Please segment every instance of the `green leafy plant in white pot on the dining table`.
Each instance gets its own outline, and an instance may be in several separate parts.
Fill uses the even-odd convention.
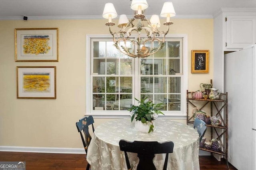
[[[139,105],[132,105],[128,111],[130,111],[131,120],[136,119],[135,129],[138,131],[148,131],[148,133],[150,133],[154,131],[154,120],[158,117],[158,114],[164,115],[162,111],[158,110],[162,108],[164,104],[153,104],[152,100],[147,100],[147,98],[148,97],[142,98],[141,101],[135,98],[135,100],[139,102]]]

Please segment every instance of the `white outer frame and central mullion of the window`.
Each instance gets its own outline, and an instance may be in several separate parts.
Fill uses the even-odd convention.
[[[167,34],[166,38],[182,38],[182,74],[183,78],[181,78],[181,106],[180,106],[180,111],[170,111],[165,113],[165,115],[160,115],[162,118],[167,118],[167,119],[186,119],[186,90],[188,89],[188,35],[187,34]],[[100,111],[100,110],[92,110],[90,106],[92,106],[92,100],[90,96],[92,96],[92,92],[90,89],[92,89],[91,85],[91,64],[92,64],[92,43],[91,39],[106,39],[106,38],[112,38],[111,35],[107,34],[97,34],[97,35],[92,35],[88,34],[86,35],[86,113],[85,115],[94,115],[96,118],[124,118],[130,116],[129,111],[112,111],[112,112],[106,112],[106,111]],[[138,72],[134,72],[134,68],[138,67],[139,59],[135,58],[134,59],[134,67],[133,67],[133,79],[139,80],[139,74]],[[122,75],[121,75],[122,76]],[[134,87],[134,81],[132,86]],[[138,94],[139,89],[134,89],[132,94],[133,96],[136,97],[134,94]],[[135,100],[133,100],[133,103],[135,103]],[[136,105],[136,103],[135,103]]]

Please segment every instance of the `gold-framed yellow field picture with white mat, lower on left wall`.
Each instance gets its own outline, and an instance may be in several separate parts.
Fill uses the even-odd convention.
[[[56,99],[56,66],[17,66],[18,99]]]

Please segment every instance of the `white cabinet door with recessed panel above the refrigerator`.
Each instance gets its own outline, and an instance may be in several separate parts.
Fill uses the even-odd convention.
[[[226,49],[243,49],[256,43],[256,16],[227,15]]]

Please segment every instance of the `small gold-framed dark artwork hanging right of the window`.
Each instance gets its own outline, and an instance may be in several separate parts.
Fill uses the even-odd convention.
[[[209,50],[192,50],[191,56],[192,73],[209,72]]]

